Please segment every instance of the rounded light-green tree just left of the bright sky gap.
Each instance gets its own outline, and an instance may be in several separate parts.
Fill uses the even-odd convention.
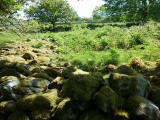
[[[31,19],[48,22],[53,26],[56,22],[68,22],[77,17],[66,0],[40,0],[37,5],[26,9],[26,14]]]

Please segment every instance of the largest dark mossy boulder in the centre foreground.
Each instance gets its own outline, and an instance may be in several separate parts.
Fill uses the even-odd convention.
[[[90,101],[103,82],[104,79],[99,73],[73,75],[64,83],[60,96],[71,97],[73,100]]]

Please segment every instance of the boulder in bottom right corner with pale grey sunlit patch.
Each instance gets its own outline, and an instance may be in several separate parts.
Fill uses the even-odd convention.
[[[131,120],[159,120],[159,108],[151,101],[140,97],[131,96],[126,103]]]

